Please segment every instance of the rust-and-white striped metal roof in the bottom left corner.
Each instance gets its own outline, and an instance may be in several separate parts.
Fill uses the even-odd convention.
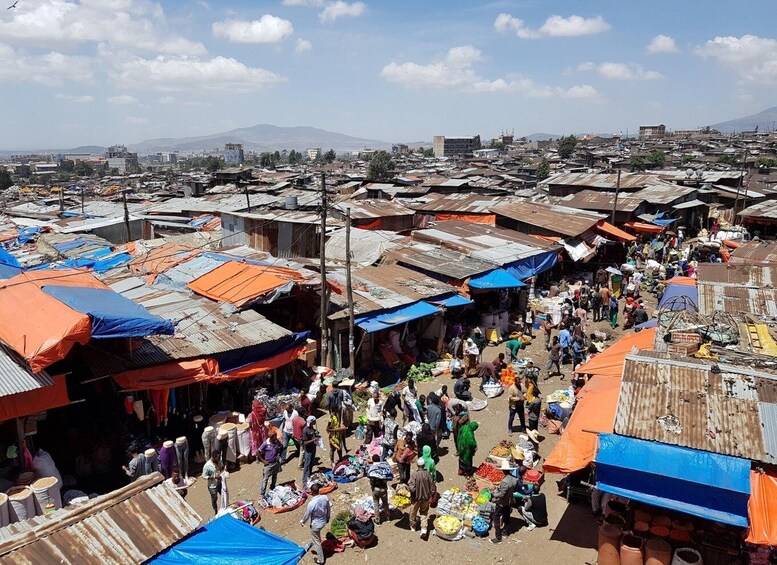
[[[104,496],[57,512],[52,519],[13,524],[0,561],[19,565],[142,563],[192,533],[201,518],[164,482],[147,475]],[[6,528],[7,529],[7,528]]]

